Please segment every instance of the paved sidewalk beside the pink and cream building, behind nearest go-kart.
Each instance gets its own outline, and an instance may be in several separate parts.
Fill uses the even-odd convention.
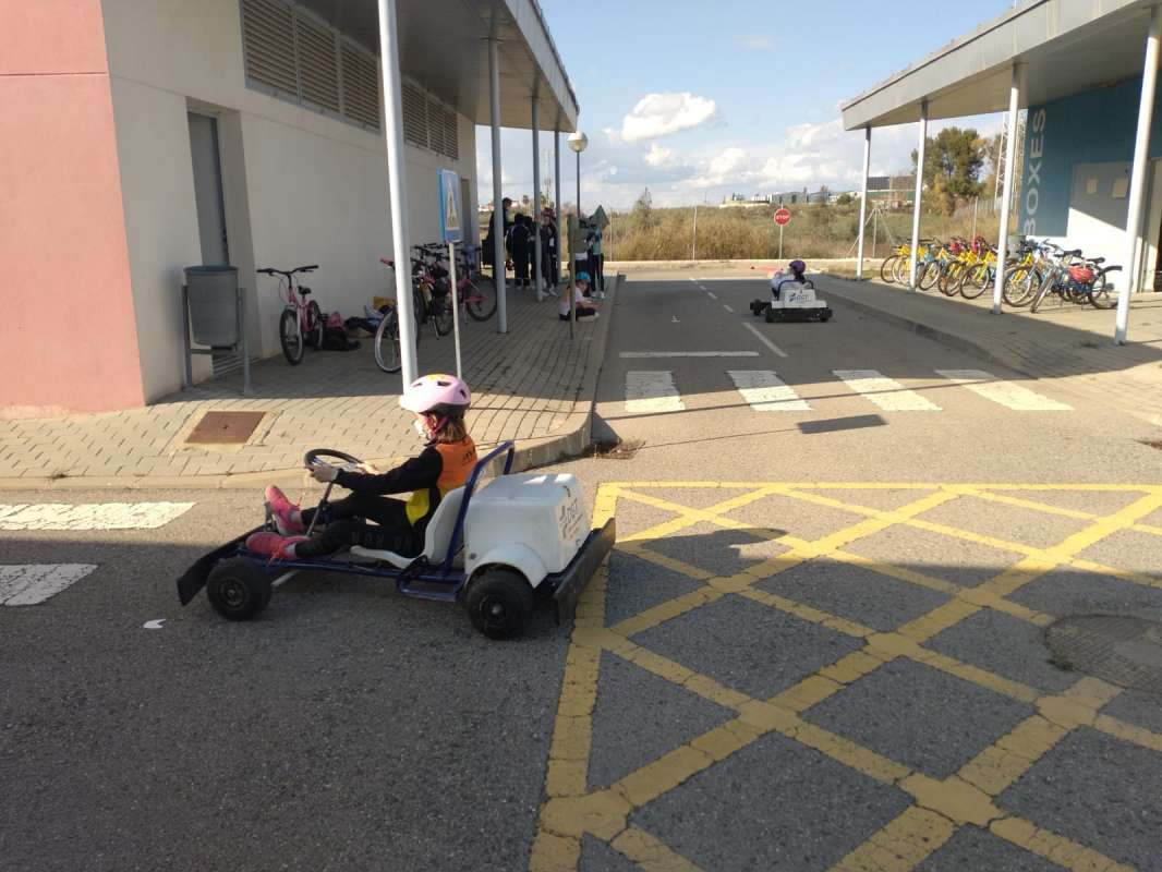
[[[469,429],[478,444],[516,439],[522,465],[547,463],[587,439],[588,416],[617,293],[608,284],[604,317],[569,326],[555,298],[537,302],[508,292],[509,331],[495,316],[461,324],[464,377],[473,389]],[[421,372],[454,372],[452,337],[423,328]],[[282,357],[242,374],[206,381],[139,409],[0,422],[0,487],[56,485],[191,485],[241,481],[260,473],[302,470],[311,448],[335,448],[387,462],[418,448],[411,415],[400,409],[401,377],[381,372],[371,339],[358,351],[308,351],[299,366]],[[266,413],[244,445],[191,445],[186,438],[207,412]]]

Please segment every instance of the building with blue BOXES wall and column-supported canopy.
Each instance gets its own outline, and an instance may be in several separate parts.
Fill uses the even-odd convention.
[[[845,102],[844,126],[866,133],[867,176],[874,128],[919,121],[923,156],[928,120],[1007,109],[1005,165],[1013,166],[1018,114],[1027,110],[1020,202],[1003,231],[1106,257],[1126,267],[1127,292],[1153,290],[1162,269],[1160,33],[1162,10],[1150,0],[1023,0]],[[913,226],[914,240],[918,209]],[[1128,300],[1119,300],[1119,342]]]

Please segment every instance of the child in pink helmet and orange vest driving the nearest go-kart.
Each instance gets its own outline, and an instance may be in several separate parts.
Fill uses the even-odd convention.
[[[423,551],[428,522],[440,499],[468,480],[476,463],[476,445],[468,436],[464,414],[472,395],[454,376],[422,376],[404,388],[400,406],[416,416],[424,450],[390,472],[364,465],[358,472],[335,466],[310,470],[316,481],[333,481],[351,495],[330,503],[325,522],[310,538],[302,534],[317,509],[299,510],[278,487],[266,488],[266,505],[278,533],[256,533],[246,549],[272,559],[310,558],[350,545],[415,557]],[[383,494],[411,492],[404,502]],[[373,524],[367,523],[373,521]]]

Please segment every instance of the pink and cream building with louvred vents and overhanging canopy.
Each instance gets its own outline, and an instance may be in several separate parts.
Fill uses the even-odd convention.
[[[399,0],[392,28],[401,238],[429,242],[437,170],[476,215],[476,124],[530,128],[539,102],[571,131],[578,103],[535,0]],[[320,264],[307,284],[344,315],[388,288],[376,0],[13,0],[0,33],[0,369],[20,373],[0,416],[177,391],[185,266],[239,269],[258,356],[279,352],[282,302],[257,267]]]

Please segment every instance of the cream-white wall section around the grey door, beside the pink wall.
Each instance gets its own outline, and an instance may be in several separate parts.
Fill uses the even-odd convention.
[[[379,263],[392,249],[380,134],[248,88],[238,0],[103,0],[102,9],[146,400],[181,385],[178,290],[181,269],[201,263],[188,109],[220,117],[230,259],[248,288],[252,353],[280,353],[275,283],[256,266],[320,264],[307,284],[324,312],[344,316],[389,287]],[[460,116],[459,130],[459,160],[407,148],[413,243],[438,238],[436,169],[475,191],[474,127]],[[195,366],[206,374],[206,362]]]

